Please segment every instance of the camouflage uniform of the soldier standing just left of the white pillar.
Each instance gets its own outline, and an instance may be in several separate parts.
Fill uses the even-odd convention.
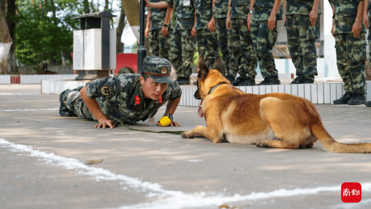
[[[300,83],[304,82],[304,77],[313,83],[314,75],[318,75],[315,44],[319,38],[319,17],[316,25],[312,26],[309,19],[312,8],[313,0],[287,0],[285,23],[287,43]],[[318,14],[322,14],[320,4]]]

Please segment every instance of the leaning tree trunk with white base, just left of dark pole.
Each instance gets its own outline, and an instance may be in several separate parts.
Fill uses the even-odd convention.
[[[139,21],[139,3],[136,0],[122,0],[122,5],[124,7],[125,15],[128,19],[130,27],[136,37],[136,40],[139,42],[140,36],[140,21]]]

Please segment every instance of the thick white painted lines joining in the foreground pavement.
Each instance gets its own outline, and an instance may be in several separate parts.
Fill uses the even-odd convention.
[[[340,194],[341,186],[328,186],[316,188],[297,188],[297,189],[278,189],[271,192],[252,192],[249,195],[235,194],[232,197],[224,196],[225,191],[219,192],[217,195],[207,196],[205,192],[194,194],[185,194],[182,191],[166,190],[158,183],[151,183],[141,181],[139,178],[129,177],[123,174],[115,174],[109,170],[90,167],[83,164],[80,160],[74,158],[67,158],[57,156],[54,153],[46,153],[34,150],[32,146],[22,144],[15,144],[5,139],[0,138],[0,147],[8,147],[13,152],[26,152],[30,156],[37,157],[48,164],[61,166],[67,170],[75,170],[78,174],[95,177],[97,181],[111,180],[119,181],[120,184],[126,184],[128,187],[136,189],[137,192],[148,192],[146,197],[155,198],[149,203],[123,206],[117,209],[181,209],[202,206],[220,206],[225,203],[246,201],[246,200],[260,200],[268,198],[292,197],[298,195],[313,195],[321,192],[337,192]],[[362,192],[371,191],[370,183],[361,183]],[[127,187],[122,187],[127,189]],[[340,199],[340,197],[339,197]],[[152,199],[153,200],[153,199]]]

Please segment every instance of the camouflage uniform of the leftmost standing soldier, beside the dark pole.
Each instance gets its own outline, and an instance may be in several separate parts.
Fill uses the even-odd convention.
[[[151,0],[151,2],[159,2],[160,0]],[[172,22],[168,25],[168,35],[162,36],[161,29],[164,25],[167,8],[156,9],[149,8],[151,11],[151,26],[149,33],[149,45],[151,47],[152,55],[163,57],[169,60],[170,35],[172,33]]]

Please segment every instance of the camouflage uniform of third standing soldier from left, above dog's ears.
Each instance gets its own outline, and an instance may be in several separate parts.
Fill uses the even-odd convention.
[[[215,58],[219,55],[216,32],[211,32],[207,27],[207,24],[212,18],[212,0],[195,1],[197,2],[197,48],[199,54],[203,54],[206,66],[212,69],[214,67]]]

